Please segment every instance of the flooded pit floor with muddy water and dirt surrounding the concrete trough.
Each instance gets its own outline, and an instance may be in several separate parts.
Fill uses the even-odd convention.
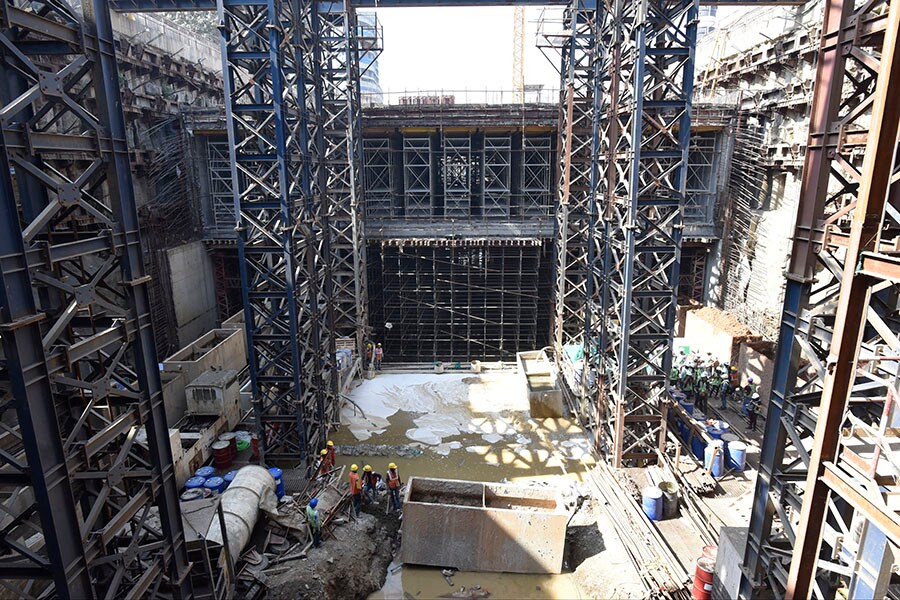
[[[567,419],[532,419],[514,373],[380,374],[354,389],[351,399],[344,407],[342,427],[332,436],[339,467],[358,464],[362,470],[371,464],[375,472],[384,473],[389,462],[396,462],[404,483],[420,476],[511,482],[559,492],[570,514],[574,511],[566,530],[563,572],[464,572],[455,565],[403,565],[401,521],[396,514],[386,514],[387,498],[380,495],[364,507],[360,521],[333,527],[335,537],[326,535],[321,548],[285,563],[290,569],[269,581],[270,597],[641,596],[639,585],[632,583],[638,577],[613,528],[593,501],[584,498],[586,471],[594,464],[588,440]],[[341,485],[347,485],[346,477]],[[442,540],[433,543],[437,547]],[[451,569],[449,577],[442,573],[444,568]]]

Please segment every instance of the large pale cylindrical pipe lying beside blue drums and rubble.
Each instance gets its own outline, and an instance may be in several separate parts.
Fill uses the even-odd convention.
[[[250,541],[256,518],[259,516],[259,503],[266,490],[275,493],[275,480],[263,467],[247,465],[242,467],[222,494],[222,512],[225,516],[225,531],[228,534],[228,551],[231,560],[237,562],[241,551]],[[222,531],[219,520],[214,519],[206,532],[206,539],[222,543]]]

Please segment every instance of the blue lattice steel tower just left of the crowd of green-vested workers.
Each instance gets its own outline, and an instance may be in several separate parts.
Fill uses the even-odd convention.
[[[615,466],[655,461],[665,442],[696,18],[692,0],[622,4],[606,241]]]

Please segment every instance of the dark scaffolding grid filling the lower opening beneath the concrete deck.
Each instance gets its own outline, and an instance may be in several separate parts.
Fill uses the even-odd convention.
[[[533,239],[371,245],[375,339],[408,362],[511,360],[545,346],[549,250]]]

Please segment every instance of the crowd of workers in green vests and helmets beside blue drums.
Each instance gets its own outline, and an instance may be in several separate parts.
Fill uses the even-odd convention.
[[[669,379],[703,412],[708,410],[709,399],[718,400],[720,410],[728,408],[729,399],[739,402],[741,416],[747,419],[750,431],[756,431],[760,410],[759,384],[753,377],[748,377],[742,386],[737,367],[713,358],[712,352],[707,352],[704,357],[682,350],[672,361]]]

